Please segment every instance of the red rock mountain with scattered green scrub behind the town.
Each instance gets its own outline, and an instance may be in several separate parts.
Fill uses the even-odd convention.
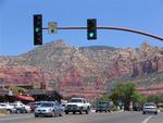
[[[163,48],[146,42],[137,49],[77,48],[57,40],[18,57],[0,57],[1,85],[46,84],[64,96],[96,98],[126,82],[145,94],[163,94]]]

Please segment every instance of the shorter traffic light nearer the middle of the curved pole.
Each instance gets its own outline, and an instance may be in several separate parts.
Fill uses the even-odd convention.
[[[97,39],[97,20],[87,20],[87,39]]]

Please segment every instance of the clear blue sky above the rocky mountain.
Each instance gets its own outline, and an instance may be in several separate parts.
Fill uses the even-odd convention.
[[[35,48],[33,14],[59,26],[86,26],[97,19],[99,26],[122,26],[163,36],[163,0],[0,0],[0,56],[18,56]],[[143,41],[163,47],[163,41],[118,30],[98,30],[87,40],[86,30],[43,30],[43,44],[63,39],[70,46],[139,47]]]

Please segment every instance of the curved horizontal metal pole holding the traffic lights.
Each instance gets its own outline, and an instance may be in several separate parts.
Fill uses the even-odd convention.
[[[48,27],[45,27],[42,29],[48,29]],[[57,27],[57,29],[87,29],[87,27],[85,26],[70,26],[70,27]],[[113,29],[113,30],[122,30],[122,32],[129,32],[129,33],[134,33],[134,34],[139,34],[139,35],[143,35],[143,36],[148,36],[154,39],[159,39],[163,41],[163,37],[153,35],[153,34],[149,34],[142,30],[136,30],[136,29],[131,29],[131,28],[125,28],[125,27],[113,27],[113,26],[98,26],[97,29]]]

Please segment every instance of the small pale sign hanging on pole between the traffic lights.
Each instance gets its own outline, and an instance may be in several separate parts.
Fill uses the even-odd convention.
[[[58,33],[58,23],[57,22],[49,22],[48,23],[48,33],[49,34],[55,34]]]

